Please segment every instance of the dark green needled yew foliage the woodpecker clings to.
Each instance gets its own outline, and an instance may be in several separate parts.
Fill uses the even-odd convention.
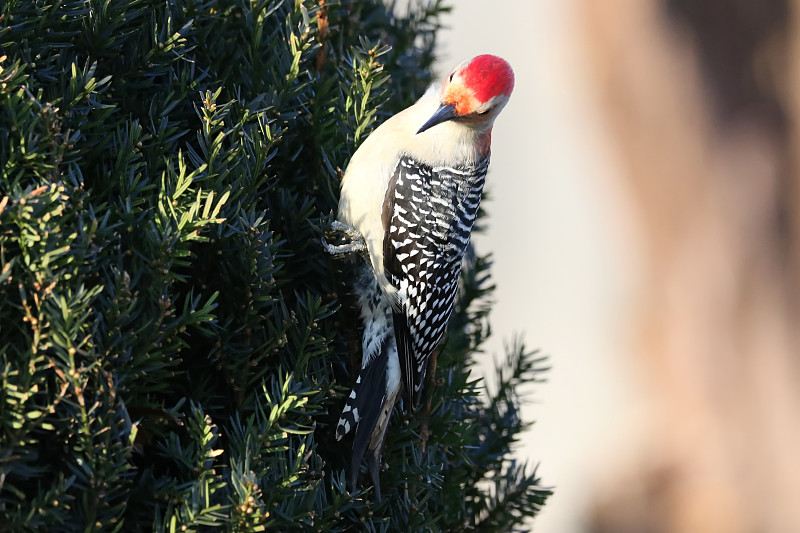
[[[465,274],[382,505],[334,424],[360,344],[324,254],[341,171],[430,82],[439,1],[0,3],[0,524],[9,531],[507,531],[547,491],[469,375]],[[510,373],[509,373],[510,372]]]

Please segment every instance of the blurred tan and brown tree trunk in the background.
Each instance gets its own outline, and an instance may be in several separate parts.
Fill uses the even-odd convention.
[[[800,0],[583,0],[653,405],[600,532],[800,531]]]

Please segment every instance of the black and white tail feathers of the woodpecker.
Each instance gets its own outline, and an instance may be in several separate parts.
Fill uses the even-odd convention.
[[[341,440],[355,428],[350,484],[354,490],[364,453],[372,475],[375,495],[381,498],[380,459],[386,428],[400,391],[400,362],[394,337],[391,304],[381,292],[372,268],[364,265],[356,283],[364,322],[361,371],[336,425]]]

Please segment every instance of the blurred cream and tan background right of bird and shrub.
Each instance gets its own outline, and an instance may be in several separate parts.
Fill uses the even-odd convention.
[[[487,351],[550,356],[540,533],[800,532],[800,0],[458,0],[516,72]]]

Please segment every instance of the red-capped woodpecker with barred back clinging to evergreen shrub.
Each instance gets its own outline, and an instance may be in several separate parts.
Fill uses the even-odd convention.
[[[400,390],[410,410],[422,394],[428,359],[441,340],[478,213],[494,119],[514,73],[503,59],[477,56],[441,87],[378,127],[353,154],[331,228],[366,252],[356,282],[364,320],[361,372],[336,437],[356,428],[351,483],[367,456],[380,499],[380,455]]]

